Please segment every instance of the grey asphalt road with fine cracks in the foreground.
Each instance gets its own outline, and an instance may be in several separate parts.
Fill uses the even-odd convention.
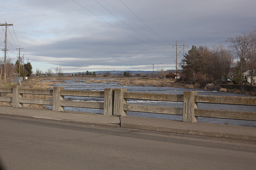
[[[255,169],[256,141],[0,115],[2,169]]]

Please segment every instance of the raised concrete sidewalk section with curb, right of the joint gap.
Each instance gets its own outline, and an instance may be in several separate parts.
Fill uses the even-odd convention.
[[[200,122],[188,123],[132,116],[121,116],[120,119],[121,127],[124,128],[256,141],[256,128],[254,127]]]

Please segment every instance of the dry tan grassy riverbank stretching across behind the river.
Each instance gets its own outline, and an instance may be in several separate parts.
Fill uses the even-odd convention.
[[[99,80],[99,78],[101,78]],[[175,87],[175,88],[190,88],[190,89],[204,89],[204,90],[216,90],[220,92],[230,92],[237,94],[246,94],[249,96],[256,95],[255,86],[248,85],[233,85],[233,84],[213,84],[208,83],[202,85],[198,82],[183,82],[173,79],[153,79],[153,78],[102,78],[102,77],[81,77],[81,76],[32,76],[28,80],[22,82],[23,88],[28,89],[47,89],[52,88],[51,85],[56,83],[65,83],[64,80],[79,79],[77,82],[91,82],[91,83],[109,83],[119,82],[120,85],[135,85],[135,86],[155,86],[155,87]],[[19,85],[19,84],[16,84]],[[0,84],[0,88],[7,88],[13,86],[13,84]]]

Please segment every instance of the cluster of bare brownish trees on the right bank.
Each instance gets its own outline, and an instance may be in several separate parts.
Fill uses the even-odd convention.
[[[183,69],[182,78],[193,82],[227,83],[233,77],[234,83],[242,84],[242,73],[251,70],[251,79],[256,69],[256,30],[242,32],[225,42],[228,48],[215,45],[192,46],[179,65]],[[253,72],[254,71],[254,72]]]

